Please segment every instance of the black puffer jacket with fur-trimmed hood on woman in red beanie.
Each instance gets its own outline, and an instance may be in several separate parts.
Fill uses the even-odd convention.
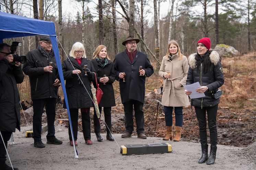
[[[222,65],[220,62],[220,55],[216,51],[210,53],[211,70],[203,73],[204,62],[196,60],[196,55],[191,54],[188,57],[189,69],[186,85],[199,82],[201,86],[207,86],[208,90],[205,92],[205,97],[191,99],[191,105],[196,107],[212,107],[220,103],[220,98],[215,99],[212,93],[216,92],[224,83],[224,76]],[[199,67],[199,68],[197,68]]]

